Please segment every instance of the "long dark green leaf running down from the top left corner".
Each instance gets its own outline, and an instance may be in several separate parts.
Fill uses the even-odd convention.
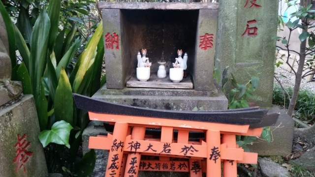
[[[9,14],[6,12],[2,1],[0,1],[0,14],[3,18],[5,29],[8,35],[9,51],[7,52],[9,53],[9,56],[11,59],[11,66],[12,68],[14,68],[16,65],[14,28],[13,28],[13,23],[9,17]]]

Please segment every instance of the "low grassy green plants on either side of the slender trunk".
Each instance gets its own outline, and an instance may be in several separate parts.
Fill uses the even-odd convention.
[[[285,88],[286,92],[292,95],[293,89],[291,87]],[[273,104],[289,105],[289,99],[280,85],[274,85]],[[315,92],[307,89],[301,89],[298,94],[295,105],[295,117],[312,123],[315,121]]]

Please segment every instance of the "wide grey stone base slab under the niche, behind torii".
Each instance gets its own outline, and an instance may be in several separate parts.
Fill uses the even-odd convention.
[[[217,87],[214,91],[194,89],[107,89],[106,85],[92,97],[105,101],[163,110],[226,110],[228,101]]]

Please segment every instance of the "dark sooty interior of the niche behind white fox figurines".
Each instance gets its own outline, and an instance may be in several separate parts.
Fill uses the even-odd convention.
[[[177,50],[188,53],[187,72],[195,57],[198,10],[121,10],[123,56],[129,61],[123,68],[130,77],[137,67],[137,52],[147,49],[151,72],[158,71],[158,61],[166,61],[168,72],[178,57]]]

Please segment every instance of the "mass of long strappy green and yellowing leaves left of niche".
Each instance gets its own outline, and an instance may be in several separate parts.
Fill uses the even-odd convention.
[[[100,23],[88,44],[82,45],[87,34],[78,29],[82,24],[78,25],[70,18],[79,12],[81,15],[76,18],[81,19],[88,14],[91,3],[91,0],[11,0],[6,6],[0,4],[1,14],[17,20],[16,24],[12,24],[10,18],[5,21],[13,27],[11,31],[15,39],[10,42],[23,60],[13,67],[12,76],[23,82],[25,94],[34,95],[42,131],[39,139],[46,147],[50,173],[61,173],[62,167],[66,167],[71,176],[84,177],[94,168],[94,151],[84,156],[81,162],[76,159],[82,132],[89,120],[86,112],[75,108],[72,92],[92,96],[101,86],[103,26]],[[80,46],[84,48],[83,53],[78,50]],[[15,57],[13,59],[15,61]],[[104,82],[106,78],[102,80]],[[70,149],[65,150],[64,146]],[[89,165],[84,169],[83,164]]]

